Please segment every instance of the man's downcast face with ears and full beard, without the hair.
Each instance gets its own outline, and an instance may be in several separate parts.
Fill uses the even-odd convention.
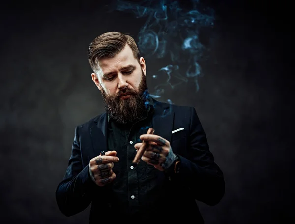
[[[144,58],[134,58],[128,45],[114,58],[101,59],[98,72],[91,75],[115,121],[134,123],[143,116],[148,100],[146,64]]]

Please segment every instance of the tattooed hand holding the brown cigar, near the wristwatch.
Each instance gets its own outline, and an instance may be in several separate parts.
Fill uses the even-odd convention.
[[[140,136],[140,139],[148,143],[141,159],[153,165],[156,169],[161,171],[167,170],[176,160],[170,142],[166,139],[155,134],[143,134]],[[136,143],[134,145],[135,149],[139,150],[142,144]]]

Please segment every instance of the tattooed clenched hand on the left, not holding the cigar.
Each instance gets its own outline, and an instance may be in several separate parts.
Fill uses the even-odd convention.
[[[90,170],[94,176],[95,183],[98,186],[105,186],[116,178],[116,174],[112,170],[114,162],[119,161],[116,154],[116,151],[108,151],[106,152],[106,155],[99,155],[90,160]]]

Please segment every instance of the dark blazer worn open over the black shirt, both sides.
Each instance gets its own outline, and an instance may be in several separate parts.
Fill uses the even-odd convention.
[[[167,189],[165,200],[171,202],[167,212],[179,214],[182,221],[185,215],[187,220],[203,223],[196,200],[207,205],[219,203],[225,191],[223,172],[209,151],[195,108],[153,101],[154,134],[168,140],[181,160],[177,179],[168,180],[164,174],[158,178],[159,184]],[[112,212],[107,211],[104,203],[107,193],[103,190],[107,187],[96,186],[89,177],[89,161],[101,151],[108,151],[107,123],[107,114],[103,113],[75,128],[68,168],[56,190],[58,207],[66,216],[83,211],[91,202],[90,223],[97,222],[98,213]],[[183,129],[172,133],[180,128]],[[172,220],[176,221],[175,217]]]

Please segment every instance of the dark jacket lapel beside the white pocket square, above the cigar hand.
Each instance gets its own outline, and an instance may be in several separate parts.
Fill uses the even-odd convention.
[[[174,119],[174,112],[172,112],[171,105],[154,100],[154,109],[155,111],[152,119],[152,125],[155,130],[154,134],[171,142]]]

